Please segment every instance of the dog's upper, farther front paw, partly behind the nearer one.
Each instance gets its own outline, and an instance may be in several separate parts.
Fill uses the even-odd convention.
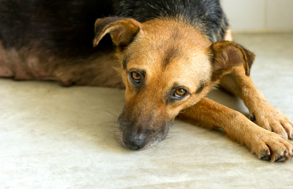
[[[292,122],[268,102],[258,106],[250,114],[250,120],[258,126],[282,135],[287,139],[293,138]]]

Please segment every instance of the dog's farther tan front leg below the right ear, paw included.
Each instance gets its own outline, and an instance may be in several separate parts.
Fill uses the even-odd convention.
[[[285,138],[293,138],[292,122],[265,99],[251,78],[245,75],[243,66],[236,66],[231,73],[224,75],[221,86],[243,100],[251,121]]]

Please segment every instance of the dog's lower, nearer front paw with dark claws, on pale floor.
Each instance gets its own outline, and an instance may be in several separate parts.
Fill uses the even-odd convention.
[[[269,131],[257,135],[256,138],[251,145],[251,151],[255,152],[259,159],[281,162],[292,158],[293,143],[291,141]]]

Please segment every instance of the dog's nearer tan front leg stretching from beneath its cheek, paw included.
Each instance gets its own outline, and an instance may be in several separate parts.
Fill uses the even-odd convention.
[[[293,144],[281,135],[265,130],[232,110],[208,98],[185,109],[180,116],[187,121],[200,123],[208,128],[222,128],[234,141],[246,145],[258,158],[285,161],[293,155]]]

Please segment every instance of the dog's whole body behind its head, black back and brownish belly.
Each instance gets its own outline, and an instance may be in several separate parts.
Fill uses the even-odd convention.
[[[92,45],[95,20],[115,15],[142,23],[177,18],[210,42],[223,39],[227,29],[218,0],[0,0],[0,76],[123,87],[119,76],[97,77],[115,66],[110,36]]]

